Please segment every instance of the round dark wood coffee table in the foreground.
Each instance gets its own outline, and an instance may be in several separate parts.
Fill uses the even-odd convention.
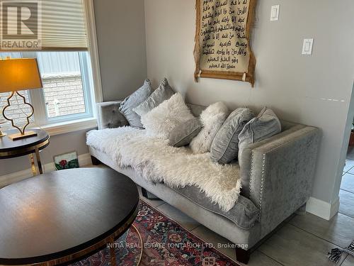
[[[88,257],[137,216],[137,187],[110,169],[61,170],[0,189],[0,265],[58,265]],[[114,248],[110,249],[115,265]]]

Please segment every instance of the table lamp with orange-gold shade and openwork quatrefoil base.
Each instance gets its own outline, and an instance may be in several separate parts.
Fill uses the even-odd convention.
[[[11,121],[11,125],[17,128],[20,133],[8,135],[11,140],[20,140],[37,135],[33,131],[25,132],[25,128],[30,124],[29,118],[33,116],[33,106],[25,101],[25,97],[18,93],[25,89],[42,89],[42,79],[38,69],[38,62],[35,58],[18,58],[10,59],[7,57],[0,60],[0,92],[11,92],[7,99],[7,105],[3,109],[3,116],[6,120]],[[15,125],[13,119],[6,116],[6,109],[11,106],[11,98],[20,96],[23,104],[30,106],[30,114],[26,116],[27,123],[22,128]]]

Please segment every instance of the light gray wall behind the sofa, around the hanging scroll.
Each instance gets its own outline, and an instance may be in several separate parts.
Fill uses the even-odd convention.
[[[270,21],[272,4],[280,4],[279,21]],[[321,128],[312,196],[333,204],[353,86],[353,10],[351,0],[258,1],[251,38],[256,85],[251,88],[219,79],[195,83],[195,1],[145,0],[148,77],[155,84],[167,77],[195,104],[224,101],[230,108],[246,105],[255,111],[269,106],[282,119]],[[301,55],[304,38],[314,38],[311,56]]]

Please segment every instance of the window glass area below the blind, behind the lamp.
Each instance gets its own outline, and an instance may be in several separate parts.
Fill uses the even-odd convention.
[[[0,57],[36,57],[42,76],[42,90],[20,92],[33,104],[37,125],[89,118],[92,113],[92,78],[88,52],[11,52]],[[0,108],[7,104],[8,93],[0,94]],[[18,99],[11,102],[11,118],[25,120],[26,111]],[[44,108],[42,108],[44,106]]]

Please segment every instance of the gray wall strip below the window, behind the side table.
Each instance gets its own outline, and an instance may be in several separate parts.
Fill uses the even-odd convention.
[[[55,155],[69,153],[74,150],[76,150],[78,155],[89,153],[89,149],[86,146],[85,133],[86,131],[76,131],[52,136],[50,138],[50,145],[40,153],[42,164],[45,165],[53,162]],[[30,169],[28,156],[0,160],[0,177],[4,174],[27,169]]]

